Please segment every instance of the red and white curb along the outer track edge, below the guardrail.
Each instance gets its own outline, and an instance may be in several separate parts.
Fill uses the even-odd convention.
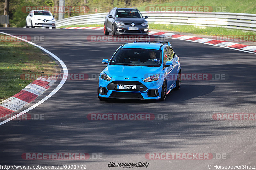
[[[76,30],[103,30],[104,27],[67,27],[63,29],[76,29]],[[195,41],[195,42],[202,42],[202,43],[208,43],[216,46],[223,46],[223,47],[229,47],[229,48],[235,48],[240,50],[246,50],[246,51],[252,51],[256,52],[256,46],[249,46],[244,44],[238,44],[234,42],[228,42],[228,41],[220,41],[216,39],[209,39],[209,38],[201,38],[201,37],[195,37],[195,36],[189,36],[189,35],[181,35],[181,34],[174,34],[174,33],[167,33],[167,32],[157,32],[157,31],[149,31],[149,35],[157,35],[161,37],[169,37],[173,39],[182,39],[182,40],[189,40],[189,41]]]

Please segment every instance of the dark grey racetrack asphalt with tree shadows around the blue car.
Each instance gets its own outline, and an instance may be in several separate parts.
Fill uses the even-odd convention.
[[[34,42],[65,62],[68,73],[95,77],[124,42],[89,42],[102,30],[1,28],[12,35],[39,35]],[[224,80],[182,81],[165,101],[97,97],[97,79],[67,80],[50,99],[28,113],[44,120],[12,120],[1,125],[0,165],[86,165],[109,169],[110,162],[148,162],[147,169],[208,169],[211,165],[255,165],[255,121],[216,121],[216,113],[256,113],[256,55],[170,39],[182,73],[225,74]],[[57,85],[39,96],[38,102]],[[27,106],[26,108],[28,108]],[[24,108],[23,110],[25,110]],[[20,112],[20,110],[19,110]],[[90,113],[168,114],[168,120],[90,121]],[[24,160],[23,153],[100,153],[103,159]],[[224,153],[227,159],[148,160],[146,153]],[[121,167],[123,168],[123,166]],[[136,167],[134,167],[136,169]],[[144,167],[140,167],[144,168]],[[120,169],[112,167],[111,169]]]

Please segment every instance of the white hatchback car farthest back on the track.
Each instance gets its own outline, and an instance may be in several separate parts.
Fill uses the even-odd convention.
[[[52,27],[55,28],[55,18],[50,11],[32,10],[26,17],[26,27]]]

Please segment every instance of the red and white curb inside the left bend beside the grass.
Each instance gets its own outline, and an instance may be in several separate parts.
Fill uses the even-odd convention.
[[[55,79],[39,77],[16,95],[0,102],[0,118],[22,109],[42,95],[54,82]]]

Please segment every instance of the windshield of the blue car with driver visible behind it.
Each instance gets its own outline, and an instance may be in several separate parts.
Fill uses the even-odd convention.
[[[151,66],[161,65],[161,51],[152,49],[119,49],[110,65]]]

